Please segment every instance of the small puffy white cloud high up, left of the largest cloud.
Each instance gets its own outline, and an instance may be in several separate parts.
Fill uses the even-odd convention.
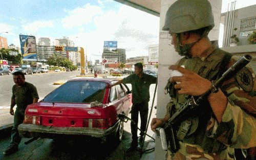
[[[62,19],[63,28],[72,29],[82,25],[90,24],[94,16],[101,13],[99,6],[87,4],[84,7],[78,7],[74,10],[68,10],[69,16]]]

